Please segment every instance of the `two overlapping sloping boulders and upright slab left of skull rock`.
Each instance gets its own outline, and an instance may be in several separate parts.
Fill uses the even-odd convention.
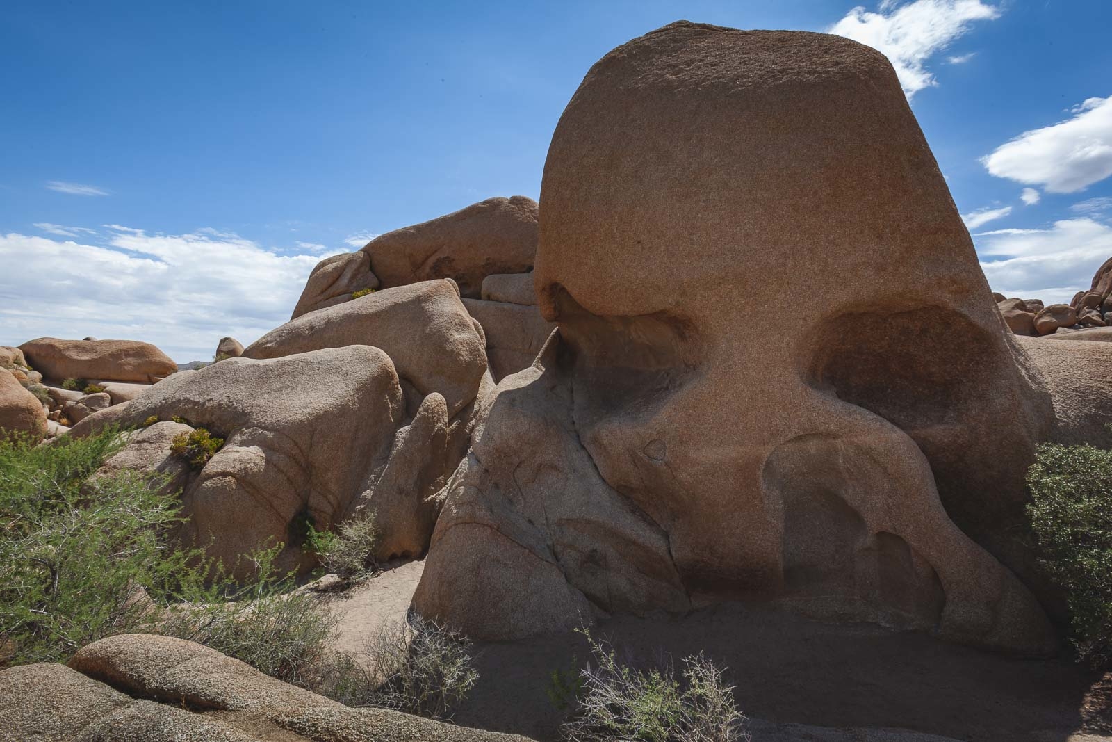
[[[183,482],[182,536],[226,564],[269,540],[287,545],[282,567],[308,567],[306,524],[334,527],[364,508],[383,533],[380,558],[417,556],[489,386],[479,330],[454,284],[436,280],[309,313],[239,358],[176,374],[82,421],[73,435],[178,417],[225,438]],[[171,438],[145,433],[125,454],[162,471]]]

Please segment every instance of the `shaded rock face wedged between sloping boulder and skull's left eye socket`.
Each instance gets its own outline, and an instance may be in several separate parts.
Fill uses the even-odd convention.
[[[464,306],[483,326],[487,362],[495,382],[532,366],[556,329],[535,306],[466,298]]]

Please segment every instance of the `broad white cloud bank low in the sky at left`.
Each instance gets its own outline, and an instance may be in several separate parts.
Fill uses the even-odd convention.
[[[179,363],[289,319],[319,258],[240,237],[113,227],[103,245],[0,235],[0,345],[44,335],[153,343]]]

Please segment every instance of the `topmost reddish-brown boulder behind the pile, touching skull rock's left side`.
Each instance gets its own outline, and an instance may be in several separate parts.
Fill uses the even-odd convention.
[[[514,196],[379,235],[363,251],[384,287],[451,278],[478,298],[486,276],[529,270],[536,249],[537,202]]]

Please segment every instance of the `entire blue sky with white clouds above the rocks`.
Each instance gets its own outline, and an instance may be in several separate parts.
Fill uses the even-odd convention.
[[[127,337],[185,362],[249,343],[320,257],[536,198],[590,65],[681,18],[888,55],[997,290],[1069,299],[1112,256],[1106,0],[14,0],[0,345]]]

